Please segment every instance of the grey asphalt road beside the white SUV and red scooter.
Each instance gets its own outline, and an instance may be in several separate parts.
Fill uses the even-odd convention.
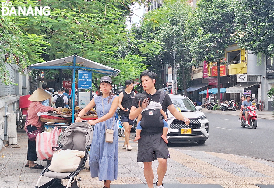
[[[206,144],[171,144],[170,148],[246,155],[274,161],[273,120],[258,119],[257,129],[242,128],[238,116],[205,113],[209,120]]]

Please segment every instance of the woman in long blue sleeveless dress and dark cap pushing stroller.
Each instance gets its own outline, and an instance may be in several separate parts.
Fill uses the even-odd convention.
[[[111,181],[117,180],[118,175],[118,129],[114,117],[119,98],[111,93],[112,80],[109,76],[100,79],[99,88],[99,94],[79,112],[75,122],[82,121],[81,116],[96,105],[98,119],[88,121],[90,125],[94,125],[90,174],[92,178],[98,177],[99,181],[104,181],[104,188],[110,188]],[[112,143],[105,142],[106,127],[114,130]]]

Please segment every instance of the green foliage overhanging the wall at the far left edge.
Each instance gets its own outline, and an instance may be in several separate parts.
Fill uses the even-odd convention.
[[[9,79],[5,64],[16,64],[20,73],[30,62],[42,62],[40,57],[44,46],[48,45],[42,35],[25,34],[12,19],[0,20],[0,79],[5,84],[14,84]]]

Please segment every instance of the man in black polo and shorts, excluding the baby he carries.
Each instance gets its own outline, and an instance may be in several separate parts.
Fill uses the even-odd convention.
[[[150,101],[159,102],[160,91],[156,90],[154,86],[156,77],[157,74],[149,70],[145,70],[140,74],[142,86],[145,90],[142,94],[146,94]],[[129,114],[129,119],[135,119],[141,113],[142,109],[146,108],[146,106],[147,101],[144,100],[142,104],[140,104],[140,102],[137,104],[136,98],[134,98]],[[168,109],[176,119],[184,121],[187,125],[189,124],[189,119],[184,117],[179,111],[176,110],[168,95],[166,95],[163,100],[162,109],[163,111]],[[142,133],[147,133],[147,131],[141,131],[141,138],[138,140],[137,161],[144,163],[144,176],[146,178],[147,185],[149,188],[153,188],[154,174],[152,170],[152,161],[157,159],[158,181],[156,182],[156,188],[164,188],[163,178],[167,171],[167,158],[170,158],[167,144],[161,137],[162,132],[151,132],[149,135]]]

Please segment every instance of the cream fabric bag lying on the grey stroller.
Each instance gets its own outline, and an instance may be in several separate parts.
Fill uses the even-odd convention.
[[[74,172],[84,156],[84,151],[69,149],[54,151],[48,169],[53,172]]]

